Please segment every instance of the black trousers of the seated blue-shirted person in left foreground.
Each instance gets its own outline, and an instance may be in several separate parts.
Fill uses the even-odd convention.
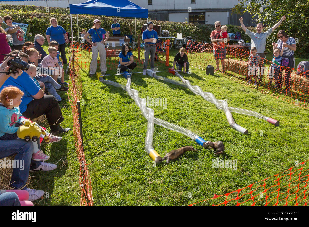
[[[51,131],[56,131],[58,124],[64,120],[58,101],[53,95],[33,99],[22,114],[31,120],[45,114]]]

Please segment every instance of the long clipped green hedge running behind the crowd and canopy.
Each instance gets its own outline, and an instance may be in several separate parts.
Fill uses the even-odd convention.
[[[50,17],[57,18],[58,25],[61,25],[67,32],[71,33],[70,27],[70,14],[69,10],[66,8],[56,8],[49,7],[49,13],[46,13],[46,7],[38,7],[38,6],[16,6],[16,5],[0,5],[1,16],[11,15],[13,17],[14,22],[19,23],[28,23],[31,25],[30,33],[32,36],[29,38],[34,40],[34,36],[36,34],[41,34],[45,36],[46,28],[50,26],[49,19]],[[106,28],[106,30],[112,32],[110,29],[111,24],[113,23],[114,17],[107,16],[95,16],[95,15],[78,15],[78,24],[79,31],[85,29],[86,31],[90,29],[93,25],[94,19],[99,19],[101,21],[102,27]],[[77,37],[77,19],[76,15],[72,15],[73,21],[73,32],[74,37]],[[121,26],[121,34],[131,34],[129,27],[132,29],[132,33],[134,34],[134,19],[125,19],[118,18],[118,22]],[[183,37],[192,36],[194,40],[199,42],[207,42],[209,43],[210,33],[213,31],[214,25],[212,24],[192,24],[192,23],[184,23],[184,22],[171,22],[171,21],[153,21],[154,24],[161,25],[162,30],[168,30],[170,36],[177,35],[177,32],[182,33]],[[136,35],[142,34],[142,25],[146,24],[146,20],[136,20]],[[125,26],[123,26],[125,25]],[[241,26],[236,25],[227,25],[227,31],[229,33],[241,32],[242,39],[246,42],[250,42],[251,39],[245,35],[245,32],[241,28]],[[255,27],[247,27],[250,31],[256,31]],[[277,28],[276,31],[272,33],[272,35],[267,39],[266,42],[266,51],[272,53],[272,43],[277,42],[276,34],[277,31],[280,30],[281,27]],[[264,31],[267,31],[267,27],[264,28]],[[281,28],[283,29],[283,28]],[[296,37],[293,34],[290,34],[292,37]],[[305,48],[305,47],[304,47]],[[295,56],[306,56],[308,55],[308,51],[304,51],[302,49],[298,49],[295,53]]]

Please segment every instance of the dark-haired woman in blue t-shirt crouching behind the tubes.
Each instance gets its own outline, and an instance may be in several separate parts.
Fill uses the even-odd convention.
[[[122,50],[119,54],[119,69],[120,73],[129,69],[129,73],[132,73],[132,70],[137,66],[133,59],[133,53],[129,44],[123,44]]]

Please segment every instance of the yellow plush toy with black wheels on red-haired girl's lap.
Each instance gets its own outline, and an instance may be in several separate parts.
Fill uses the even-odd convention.
[[[36,125],[35,122],[31,122],[30,120],[25,120],[23,122],[24,125],[19,126],[17,130],[17,136],[25,141],[37,141],[40,138],[41,134],[43,134],[44,140],[49,142],[49,138],[47,133]]]

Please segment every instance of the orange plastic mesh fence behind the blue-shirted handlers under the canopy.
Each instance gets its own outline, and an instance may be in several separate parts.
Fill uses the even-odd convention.
[[[156,44],[156,54],[155,54],[155,67],[158,66],[168,66],[168,55],[169,55],[169,46],[170,40],[164,40],[163,42]],[[116,74],[119,61],[119,53],[121,50],[112,48],[105,48],[106,50],[106,66],[109,71],[107,74]],[[133,59],[136,62],[137,67],[143,68],[144,63],[144,53],[145,48],[136,48],[132,49]],[[92,60],[92,51],[91,45],[74,42],[74,51],[77,58],[77,63],[79,67],[83,69],[87,74],[89,73],[90,62]],[[150,57],[149,57],[150,58]],[[150,66],[150,59],[148,60],[148,68]],[[97,59],[97,70],[100,70],[100,57],[98,55]]]

